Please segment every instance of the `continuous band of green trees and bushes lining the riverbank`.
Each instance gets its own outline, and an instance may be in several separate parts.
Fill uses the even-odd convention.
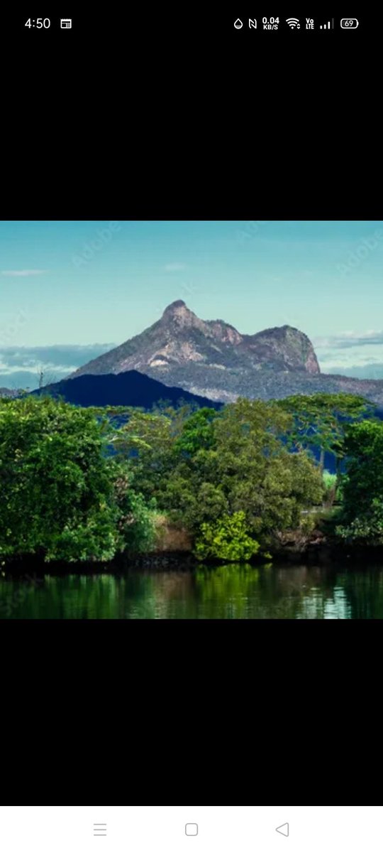
[[[323,470],[326,453],[334,474]],[[383,425],[346,394],[150,413],[3,398],[0,556],[147,551],[162,514],[187,531],[198,559],[243,561],[286,531],[306,541],[313,508],[334,502],[340,539],[383,543],[381,460]]]

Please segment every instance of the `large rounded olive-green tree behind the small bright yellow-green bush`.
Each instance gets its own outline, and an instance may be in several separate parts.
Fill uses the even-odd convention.
[[[230,403],[213,421],[209,448],[182,456],[170,471],[163,506],[191,531],[237,512],[254,537],[300,525],[302,508],[322,498],[323,484],[306,452],[283,444],[291,424],[275,403]]]

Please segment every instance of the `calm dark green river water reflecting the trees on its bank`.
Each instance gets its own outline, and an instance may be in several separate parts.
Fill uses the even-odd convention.
[[[379,566],[195,566],[0,579],[3,619],[376,619]]]

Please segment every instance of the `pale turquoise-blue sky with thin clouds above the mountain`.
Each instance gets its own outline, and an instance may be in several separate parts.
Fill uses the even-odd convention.
[[[289,323],[326,372],[383,376],[383,222],[2,222],[0,385],[61,378],[174,299],[240,332]]]

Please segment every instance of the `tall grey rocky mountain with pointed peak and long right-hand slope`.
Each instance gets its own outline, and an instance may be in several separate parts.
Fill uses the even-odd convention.
[[[238,396],[347,392],[383,406],[383,380],[321,374],[312,342],[299,329],[240,334],[223,320],[201,320],[182,299],[141,334],[78,368],[69,381],[129,370],[224,403]]]

